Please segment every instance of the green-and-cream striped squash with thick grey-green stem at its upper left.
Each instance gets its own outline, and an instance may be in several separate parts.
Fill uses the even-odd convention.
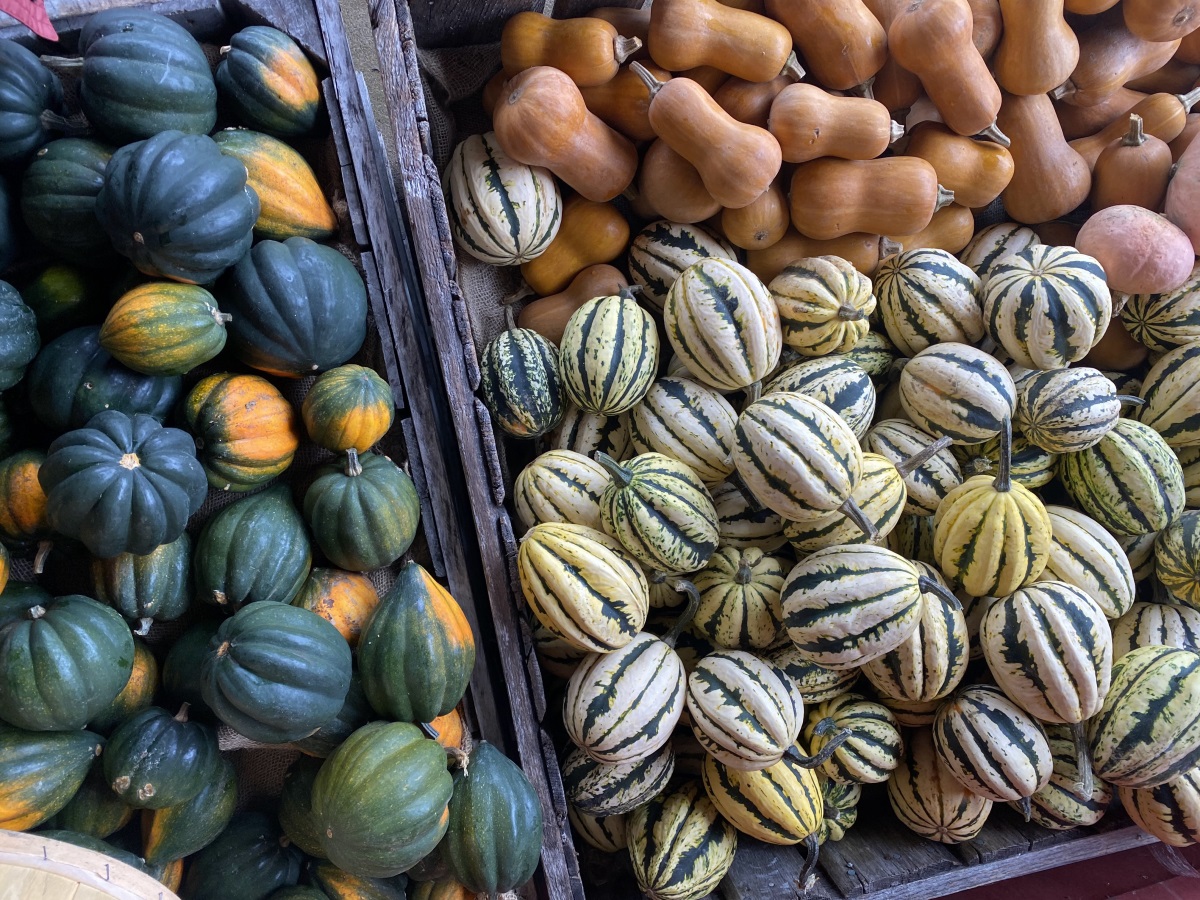
[[[716,510],[696,473],[662,454],[598,458],[611,476],[600,494],[604,529],[650,569],[702,569],[716,551]]]

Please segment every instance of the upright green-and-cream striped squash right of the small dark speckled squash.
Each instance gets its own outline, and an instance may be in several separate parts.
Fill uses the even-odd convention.
[[[586,413],[619,415],[646,396],[659,368],[654,319],[628,290],[571,313],[558,343],[566,398]]]

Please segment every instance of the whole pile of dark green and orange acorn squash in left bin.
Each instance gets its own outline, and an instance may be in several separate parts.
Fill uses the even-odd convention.
[[[0,828],[188,899],[511,890],[541,806],[458,712],[320,96],[263,25],[0,41]]]

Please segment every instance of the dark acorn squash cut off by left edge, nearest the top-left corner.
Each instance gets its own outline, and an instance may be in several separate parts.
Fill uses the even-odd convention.
[[[0,166],[19,166],[50,139],[42,113],[62,110],[62,84],[19,43],[0,40]]]

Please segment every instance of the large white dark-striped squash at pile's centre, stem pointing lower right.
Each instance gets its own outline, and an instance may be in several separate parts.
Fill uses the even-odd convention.
[[[850,499],[863,470],[854,432],[818,400],[768,394],[738,418],[742,482],[784,518],[815,518]]]

